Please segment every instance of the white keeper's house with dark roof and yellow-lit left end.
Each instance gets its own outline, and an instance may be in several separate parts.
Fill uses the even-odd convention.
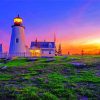
[[[30,52],[32,56],[55,56],[55,42],[31,42]]]

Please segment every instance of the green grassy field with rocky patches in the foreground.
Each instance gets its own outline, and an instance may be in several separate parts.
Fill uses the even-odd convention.
[[[100,56],[0,59],[0,100],[100,100]]]

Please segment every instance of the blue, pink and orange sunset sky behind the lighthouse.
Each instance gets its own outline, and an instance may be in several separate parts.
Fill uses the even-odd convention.
[[[63,53],[99,52],[100,0],[0,0],[0,43],[8,51],[13,18],[23,18],[26,44],[38,41],[62,44]]]

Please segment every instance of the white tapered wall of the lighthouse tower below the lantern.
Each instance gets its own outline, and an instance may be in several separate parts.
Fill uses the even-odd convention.
[[[17,38],[19,40],[18,43],[16,42]],[[13,26],[12,27],[12,35],[11,35],[9,53],[10,54],[16,54],[16,53],[19,53],[19,52],[20,53],[26,52],[24,27]]]

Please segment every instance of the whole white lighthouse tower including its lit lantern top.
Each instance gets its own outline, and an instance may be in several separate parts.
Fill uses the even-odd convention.
[[[14,18],[14,25],[12,25],[12,35],[10,40],[9,54],[10,56],[21,56],[25,54],[25,27],[22,25],[22,18]]]

